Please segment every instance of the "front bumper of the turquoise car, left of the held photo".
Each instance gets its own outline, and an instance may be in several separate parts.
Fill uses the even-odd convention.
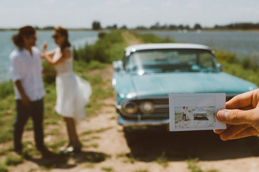
[[[164,120],[138,120],[138,121],[131,121],[125,120],[122,118],[120,113],[118,114],[118,124],[122,126],[160,126],[160,125],[167,125],[169,124],[169,118]]]

